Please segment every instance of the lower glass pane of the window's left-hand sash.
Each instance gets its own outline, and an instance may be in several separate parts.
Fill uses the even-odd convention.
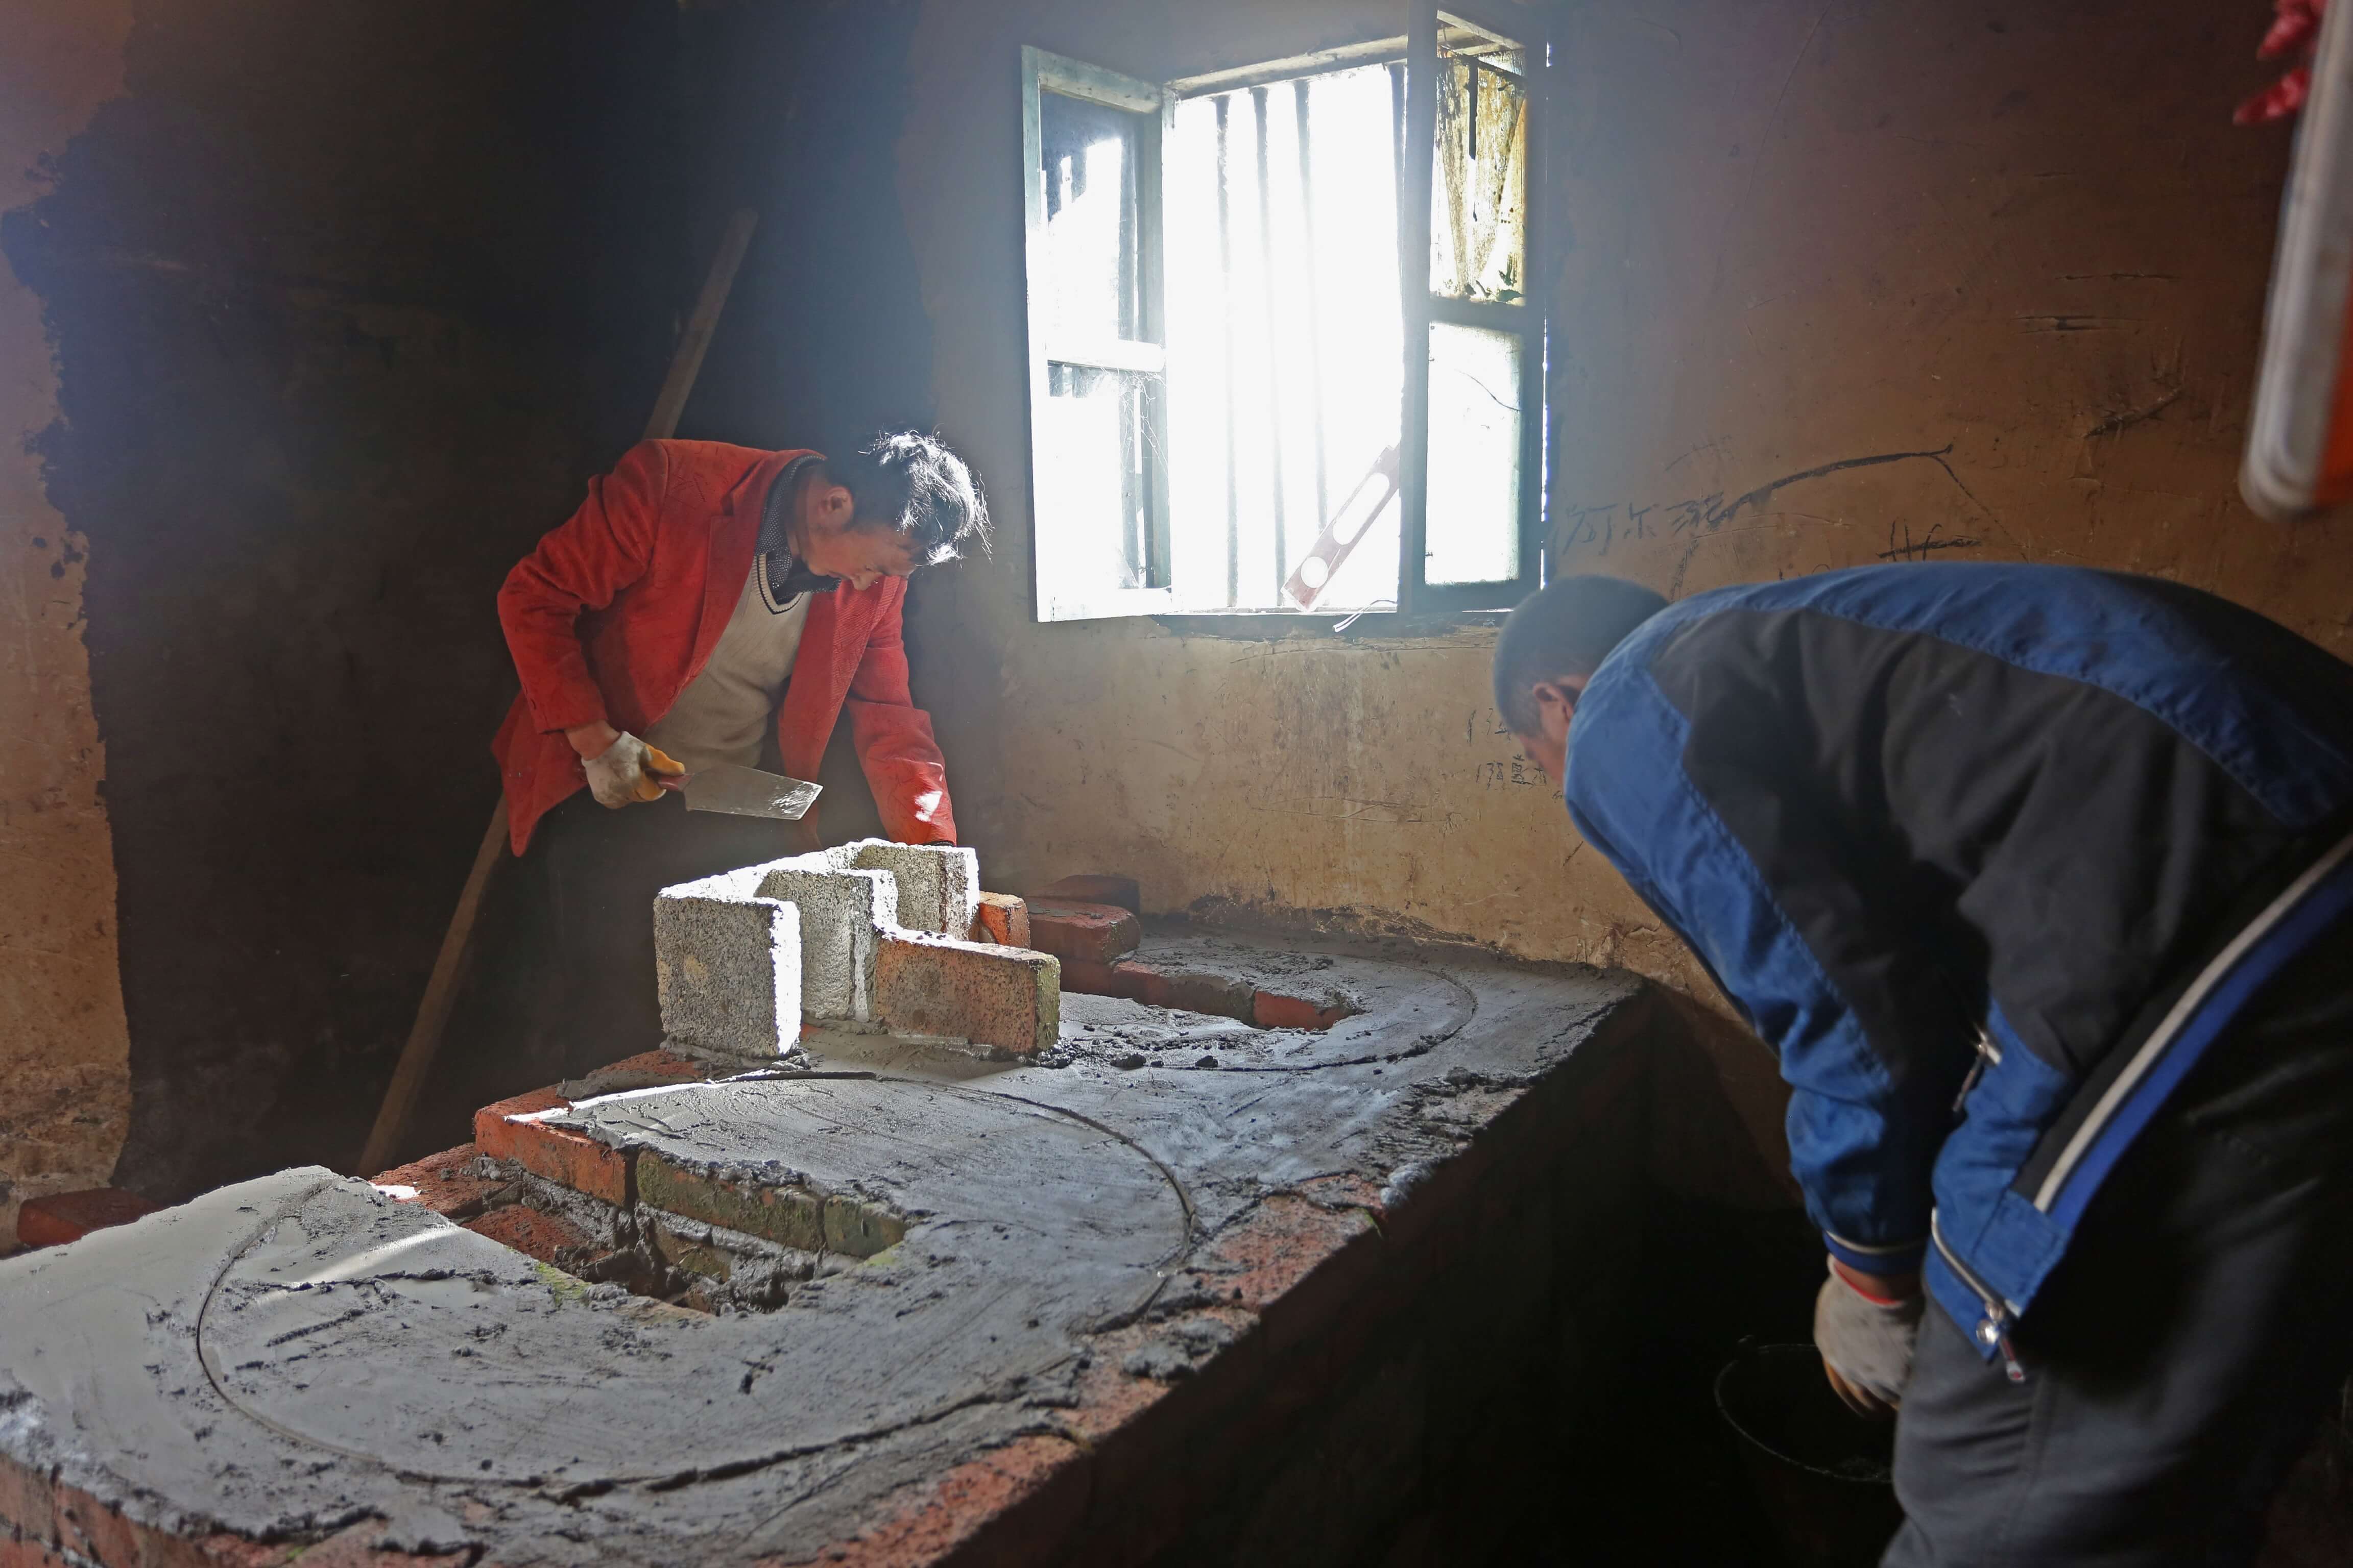
[[[1151,585],[1151,376],[1047,364],[1033,473],[1049,607]]]

